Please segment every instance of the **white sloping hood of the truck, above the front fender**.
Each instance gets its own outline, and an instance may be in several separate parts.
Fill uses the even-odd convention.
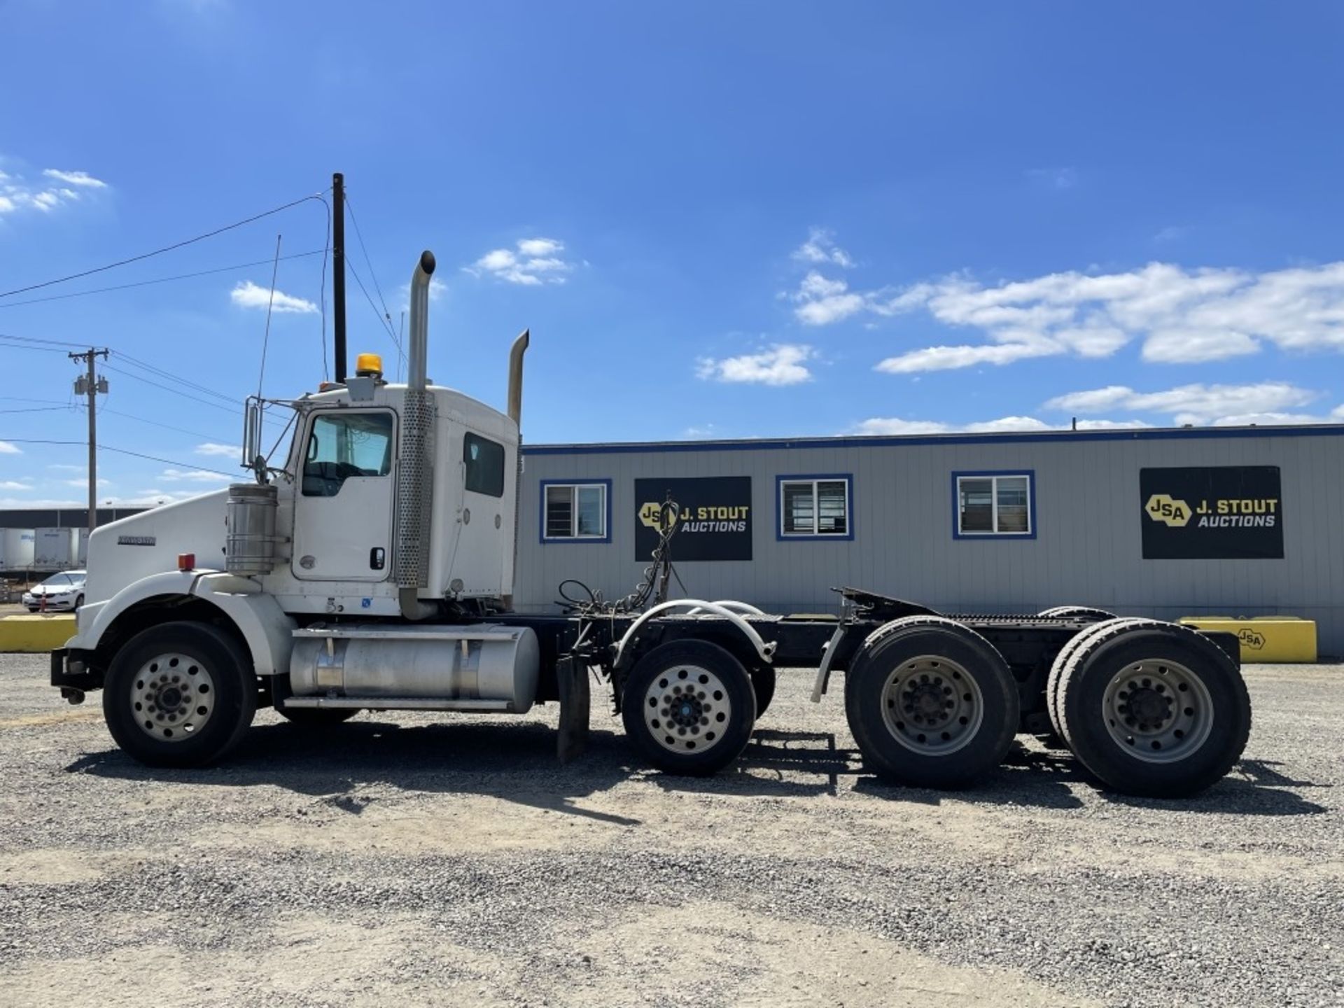
[[[94,530],[89,536],[85,601],[103,602],[151,574],[177,570],[177,555],[196,554],[196,566],[224,567],[228,491],[164,504]]]

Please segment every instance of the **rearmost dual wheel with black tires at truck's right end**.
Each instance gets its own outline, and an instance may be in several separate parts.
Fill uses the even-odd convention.
[[[1125,794],[1187,797],[1241,758],[1251,702],[1236,663],[1195,630],[1109,625],[1074,650],[1056,711],[1074,755]]]

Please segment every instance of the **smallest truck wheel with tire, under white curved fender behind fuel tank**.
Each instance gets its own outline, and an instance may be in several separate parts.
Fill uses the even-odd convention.
[[[630,669],[621,695],[630,743],[673,774],[722,770],[742,755],[757,718],[746,668],[708,641],[660,644]]]

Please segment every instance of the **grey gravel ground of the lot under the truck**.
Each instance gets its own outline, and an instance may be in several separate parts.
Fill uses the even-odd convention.
[[[880,785],[804,672],[708,781],[632,766],[597,702],[567,767],[552,706],[265,712],[148,770],[44,679],[0,656],[5,1004],[1344,1004],[1344,667],[1251,667],[1246,759],[1176,802],[1034,739]]]

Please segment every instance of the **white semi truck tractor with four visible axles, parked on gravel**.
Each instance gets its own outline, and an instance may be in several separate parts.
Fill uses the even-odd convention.
[[[672,501],[634,594],[605,602],[579,586],[567,612],[512,612],[530,337],[512,348],[505,413],[430,386],[433,271],[426,251],[405,384],[362,355],[353,376],[316,392],[249,401],[250,482],[90,538],[78,632],[52,653],[51,681],[73,703],[101,689],[134,758],[219,761],[258,707],[323,727],[312,745],[335,746],[362,710],[526,715],[559,703],[567,759],[598,681],[646,762],[706,774],[742,755],[777,668],[813,669],[813,700],[844,671],[866,765],[910,785],[964,785],[1019,732],[1067,746],[1134,794],[1191,794],[1241,757],[1250,702],[1230,634],[1074,606],[945,616],[856,589],[841,590],[835,618],[668,599]],[[280,407],[294,434],[267,461],[262,415]]]

